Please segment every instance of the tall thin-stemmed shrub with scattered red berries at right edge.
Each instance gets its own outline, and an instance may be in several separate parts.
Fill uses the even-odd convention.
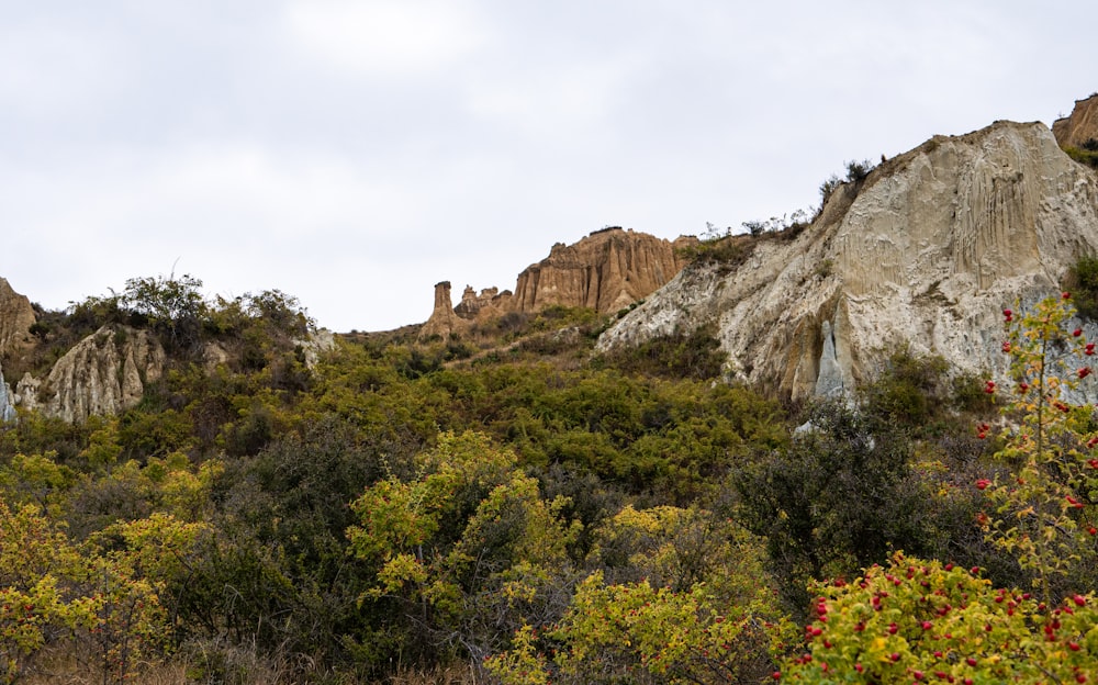
[[[1091,405],[1073,402],[1088,383],[1095,344],[1072,330],[1074,314],[1066,292],[1004,312],[1013,385],[987,389],[1009,397],[1017,428],[996,453],[1008,472],[977,483],[995,506],[989,538],[1035,573],[1046,602],[1054,576],[1093,561],[1098,532],[1098,426]]]

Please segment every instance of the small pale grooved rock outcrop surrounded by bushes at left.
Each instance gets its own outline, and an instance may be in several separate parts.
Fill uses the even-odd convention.
[[[148,332],[104,326],[57,360],[46,379],[24,375],[14,404],[67,422],[117,414],[141,402],[145,383],[160,378],[165,362]]]

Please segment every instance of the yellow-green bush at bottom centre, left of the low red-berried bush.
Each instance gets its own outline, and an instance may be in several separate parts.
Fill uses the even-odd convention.
[[[524,626],[486,662],[503,683],[752,680],[769,671],[771,640],[793,637],[759,582],[758,541],[731,521],[626,507],[598,539],[598,568],[560,620]]]

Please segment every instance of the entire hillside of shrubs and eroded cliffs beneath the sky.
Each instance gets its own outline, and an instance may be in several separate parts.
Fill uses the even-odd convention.
[[[1098,179],[1008,122],[848,170],[390,332],[0,279],[0,682],[1098,678]]]

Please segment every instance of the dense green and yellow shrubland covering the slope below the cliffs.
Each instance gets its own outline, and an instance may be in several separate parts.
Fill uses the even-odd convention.
[[[116,417],[0,427],[3,682],[139,681],[157,664],[193,683],[822,682],[861,677],[855,664],[920,680],[944,643],[894,611],[922,616],[904,604],[922,581],[942,603],[978,597],[979,616],[999,606],[993,584],[1032,586],[1047,597],[1016,602],[1024,626],[1061,595],[1094,602],[1098,440],[1090,408],[1062,412],[1055,386],[996,424],[1035,415],[1047,439],[1032,448],[985,424],[1001,392],[940,360],[899,352],[851,403],[793,411],[716,382],[710,330],[594,357],[605,322],[590,311],[463,340],[345,336],[310,363],[312,322],[292,297],[209,302],[199,285],[135,279],[42,318],[30,366],[109,323],[171,353]],[[1026,322],[1011,349],[1093,352],[1041,318],[1011,318]],[[1011,489],[1019,478],[1043,484]],[[1027,506],[1053,518],[1011,527]],[[1042,520],[1072,536],[1034,547]],[[978,579],[959,575],[972,566]],[[888,613],[859,624],[888,577]],[[824,621],[833,607],[850,620]],[[1022,639],[1008,618],[987,618],[993,635],[1001,619]],[[1060,618],[1057,636],[1093,655],[1079,620]],[[957,626],[942,672],[964,676],[975,628]],[[899,636],[879,654],[877,628]]]

